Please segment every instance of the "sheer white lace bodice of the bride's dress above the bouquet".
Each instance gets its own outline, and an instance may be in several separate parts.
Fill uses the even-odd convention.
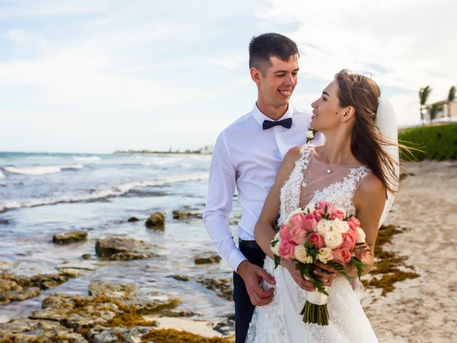
[[[330,171],[328,173],[327,171]],[[334,207],[356,215],[352,199],[358,184],[370,173],[367,166],[327,165],[314,155],[314,148],[301,148],[295,167],[281,188],[278,224],[291,212],[318,201],[331,202]]]

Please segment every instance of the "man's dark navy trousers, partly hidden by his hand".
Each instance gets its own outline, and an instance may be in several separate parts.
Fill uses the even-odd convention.
[[[253,247],[247,247],[242,242],[240,242],[239,248],[249,262],[263,267],[265,253],[260,248],[253,249]],[[254,312],[254,305],[251,304],[243,279],[236,272],[233,272],[233,301],[235,302],[235,342],[244,343]]]

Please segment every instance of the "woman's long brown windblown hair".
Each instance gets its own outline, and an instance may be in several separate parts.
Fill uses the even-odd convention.
[[[398,189],[396,169],[399,164],[383,146],[398,144],[383,139],[375,124],[378,99],[381,96],[379,86],[372,79],[349,73],[346,69],[336,74],[335,80],[338,82],[340,106],[352,106],[355,109],[356,121],[351,134],[352,153],[381,179],[387,192],[395,194]]]

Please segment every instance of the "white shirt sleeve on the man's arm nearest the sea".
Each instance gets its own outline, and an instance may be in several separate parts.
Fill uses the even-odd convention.
[[[236,168],[227,148],[224,131],[214,144],[209,169],[209,189],[203,220],[206,231],[216,246],[216,252],[236,272],[246,257],[236,247],[229,227],[233,194],[236,187]]]

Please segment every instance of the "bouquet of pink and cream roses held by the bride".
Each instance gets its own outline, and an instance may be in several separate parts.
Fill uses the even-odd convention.
[[[317,202],[292,212],[278,227],[271,250],[275,268],[281,259],[294,260],[301,275],[313,282],[316,291],[307,292],[300,314],[303,322],[319,325],[328,325],[328,293],[321,279],[313,274],[313,263],[327,264],[345,277],[348,275],[343,264],[348,264],[360,278],[367,267],[361,257],[369,251],[358,219],[346,216],[343,209],[333,208],[329,202]]]

